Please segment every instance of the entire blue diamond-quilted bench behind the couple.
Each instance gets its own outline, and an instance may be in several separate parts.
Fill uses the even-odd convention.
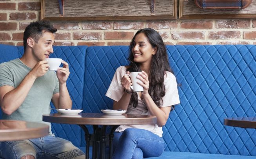
[[[128,46],[55,46],[51,57],[70,64],[67,86],[73,108],[112,108],[105,96],[115,70],[127,65]],[[22,56],[23,47],[0,45],[0,63]],[[256,130],[223,125],[225,117],[256,115],[255,45],[167,45],[180,105],[163,126],[165,152],[148,159],[256,159]],[[90,131],[93,129],[88,126]],[[77,125],[52,124],[56,136],[84,150]]]

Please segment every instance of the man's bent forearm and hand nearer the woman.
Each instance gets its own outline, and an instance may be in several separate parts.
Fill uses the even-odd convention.
[[[71,109],[72,101],[67,90],[66,81],[70,74],[69,65],[63,61],[63,67],[58,68],[57,78],[59,80],[60,92],[53,95],[52,102],[56,109]]]

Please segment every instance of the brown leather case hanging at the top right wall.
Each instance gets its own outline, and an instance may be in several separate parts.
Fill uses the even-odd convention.
[[[201,9],[244,9],[252,0],[194,0]]]

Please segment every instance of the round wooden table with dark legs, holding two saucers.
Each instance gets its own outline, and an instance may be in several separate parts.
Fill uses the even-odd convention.
[[[112,158],[112,141],[114,130],[120,125],[155,124],[156,116],[122,114],[109,116],[103,113],[79,113],[78,115],[44,114],[43,121],[62,124],[76,124],[85,132],[86,158],[89,159],[89,142],[93,141],[93,159],[105,159],[105,145],[109,141],[109,158]],[[90,134],[85,125],[92,125],[94,133]],[[106,126],[112,126],[106,134]],[[99,145],[98,145],[99,144]],[[98,150],[98,147],[99,150]],[[99,157],[98,157],[99,156]]]

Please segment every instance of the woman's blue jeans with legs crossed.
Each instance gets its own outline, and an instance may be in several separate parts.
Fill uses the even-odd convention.
[[[113,150],[113,159],[157,157],[164,150],[164,141],[148,130],[127,128],[123,132],[114,132]]]

